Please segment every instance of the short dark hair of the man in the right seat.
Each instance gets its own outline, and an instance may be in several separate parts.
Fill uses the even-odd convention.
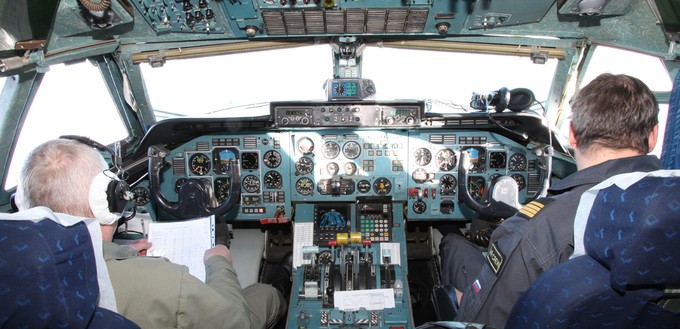
[[[659,105],[639,79],[605,73],[569,102],[578,147],[603,146],[649,153],[649,134],[659,123]]]

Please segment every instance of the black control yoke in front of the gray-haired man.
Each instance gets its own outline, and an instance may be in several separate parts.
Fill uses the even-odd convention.
[[[156,205],[168,214],[180,219],[195,217],[205,217],[215,215],[216,217],[228,213],[240,198],[241,177],[240,165],[238,160],[230,166],[229,196],[217,205],[217,200],[213,197],[212,184],[205,179],[187,179],[179,187],[177,202],[169,201],[163,196],[160,190],[160,171],[164,166],[163,158],[169,153],[168,150],[159,147],[149,147],[149,189],[151,197]]]

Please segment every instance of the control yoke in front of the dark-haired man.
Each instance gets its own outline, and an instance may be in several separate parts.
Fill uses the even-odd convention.
[[[536,149],[535,152],[540,158],[540,186],[536,194],[529,198],[527,202],[546,195],[552,173],[552,147],[548,145]],[[481,219],[507,218],[521,208],[518,200],[519,188],[517,182],[510,176],[500,176],[491,181],[488,201],[480,202],[473,198],[468,187],[470,167],[470,155],[467,152],[461,152],[460,164],[458,165],[458,200],[477,212]]]

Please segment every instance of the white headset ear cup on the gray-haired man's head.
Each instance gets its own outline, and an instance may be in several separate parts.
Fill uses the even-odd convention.
[[[113,185],[115,191],[119,180],[115,174],[108,170],[104,170],[92,179],[90,185],[90,209],[94,217],[103,225],[111,225],[118,222],[122,216],[120,213],[111,212],[110,208],[110,186]]]

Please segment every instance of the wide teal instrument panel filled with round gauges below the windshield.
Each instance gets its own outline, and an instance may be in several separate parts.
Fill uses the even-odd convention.
[[[467,186],[484,201],[501,175],[519,186],[519,201],[539,192],[538,156],[530,147],[485,131],[334,128],[206,135],[166,157],[161,189],[172,200],[187,179],[210,183],[216,204],[229,194],[232,166],[240,171],[240,199],[228,218],[279,221],[294,204],[353,203],[390,196],[409,220],[467,220],[458,201],[460,155],[472,162]]]

